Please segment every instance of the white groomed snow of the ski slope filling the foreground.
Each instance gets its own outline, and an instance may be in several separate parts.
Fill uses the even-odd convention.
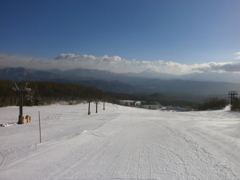
[[[1,108],[0,179],[240,179],[240,113],[102,105]]]

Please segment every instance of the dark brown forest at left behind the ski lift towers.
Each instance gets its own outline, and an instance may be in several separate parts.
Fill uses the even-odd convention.
[[[23,89],[26,83],[17,83],[19,89]],[[0,106],[18,105],[19,98],[14,82],[0,80]],[[24,105],[45,105],[59,101],[74,101],[83,100],[106,100],[113,101],[103,91],[83,85],[70,83],[54,83],[54,82],[29,82],[27,85],[31,91],[24,93]]]

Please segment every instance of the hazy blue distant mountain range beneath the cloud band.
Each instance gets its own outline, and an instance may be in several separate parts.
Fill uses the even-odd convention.
[[[236,83],[224,81],[221,76],[232,76]],[[217,76],[218,82],[212,82]],[[156,78],[158,77],[158,78]],[[103,91],[128,94],[152,94],[178,92],[198,95],[226,94],[228,91],[240,91],[240,79],[232,74],[189,74],[176,76],[153,72],[118,74],[94,69],[73,69],[47,71],[28,68],[0,69],[0,78],[11,81],[52,81],[76,83],[97,87]],[[208,81],[201,81],[209,78]],[[226,77],[225,77],[226,78]]]

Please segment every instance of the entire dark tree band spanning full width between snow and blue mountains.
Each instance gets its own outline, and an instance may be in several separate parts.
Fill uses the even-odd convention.
[[[25,82],[18,82],[18,87],[24,88]],[[13,90],[14,82],[0,80],[0,107],[19,105],[19,96]],[[95,87],[71,83],[56,82],[29,82],[28,88],[31,91],[24,94],[24,106],[47,105],[66,101],[69,104],[81,103],[82,101],[106,101],[118,104],[117,99],[136,100],[153,102],[158,101],[165,106],[189,106],[196,110],[222,109],[229,101],[226,99],[210,98],[203,103],[196,103],[183,100],[169,100],[164,97],[151,97],[133,94],[119,94],[113,92],[103,92]],[[240,110],[240,101],[236,100],[231,106],[232,110]]]

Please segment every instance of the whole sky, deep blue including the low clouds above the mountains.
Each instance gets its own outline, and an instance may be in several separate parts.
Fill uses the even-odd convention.
[[[239,0],[0,0],[0,65],[239,72],[239,9]]]

